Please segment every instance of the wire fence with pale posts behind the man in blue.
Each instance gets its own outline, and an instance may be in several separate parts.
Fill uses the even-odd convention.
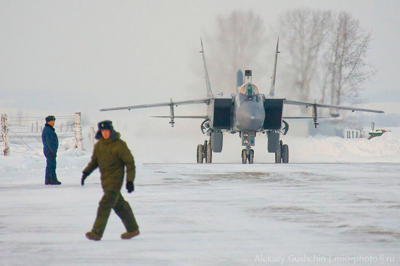
[[[58,137],[58,151],[65,151],[77,147],[75,138],[75,117],[55,116],[55,133]],[[41,131],[44,127],[44,117],[8,116],[7,142],[11,153],[28,154],[44,157]],[[80,127],[80,123],[78,124]],[[4,150],[4,141],[0,139],[1,150]]]

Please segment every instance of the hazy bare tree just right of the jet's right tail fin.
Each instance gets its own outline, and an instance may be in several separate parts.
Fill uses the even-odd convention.
[[[286,83],[300,100],[311,100],[310,83],[316,77],[330,23],[330,11],[309,8],[287,10],[280,16],[278,34],[291,58],[285,65],[285,76],[289,79]]]

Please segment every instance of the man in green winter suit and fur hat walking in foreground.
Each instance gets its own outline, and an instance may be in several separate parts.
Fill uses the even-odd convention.
[[[111,121],[101,121],[97,126],[98,131],[95,138],[98,141],[94,145],[91,161],[83,169],[81,184],[83,186],[86,177],[98,167],[101,173],[101,187],[104,195],[98,203],[97,217],[93,228],[86,233],[86,238],[89,240],[101,239],[109,214],[113,209],[126,228],[126,232],[121,235],[121,239],[131,239],[139,235],[139,227],[129,204],[123,199],[120,190],[125,166],[126,189],[128,193],[134,190],[135,166],[133,156],[126,143],[119,138],[120,134],[114,131]]]

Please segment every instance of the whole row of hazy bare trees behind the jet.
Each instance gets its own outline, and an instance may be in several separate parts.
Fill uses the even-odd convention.
[[[265,65],[272,61],[266,61],[265,45],[269,47],[277,36],[284,59],[278,59],[277,81],[284,85],[279,90],[294,94],[294,99],[316,98],[333,105],[362,103],[362,85],[376,73],[366,57],[371,33],[345,11],[288,9],[267,32],[259,14],[236,10],[218,15],[216,25],[217,31],[210,38],[218,55],[216,72],[230,87],[235,87],[233,81],[241,67],[268,74]]]

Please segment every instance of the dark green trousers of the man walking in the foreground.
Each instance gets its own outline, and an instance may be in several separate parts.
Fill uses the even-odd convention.
[[[129,203],[123,199],[121,193],[119,191],[104,191],[104,195],[98,203],[97,217],[94,221],[92,232],[100,237],[103,236],[111,209],[121,219],[126,232],[133,232],[139,228]]]

